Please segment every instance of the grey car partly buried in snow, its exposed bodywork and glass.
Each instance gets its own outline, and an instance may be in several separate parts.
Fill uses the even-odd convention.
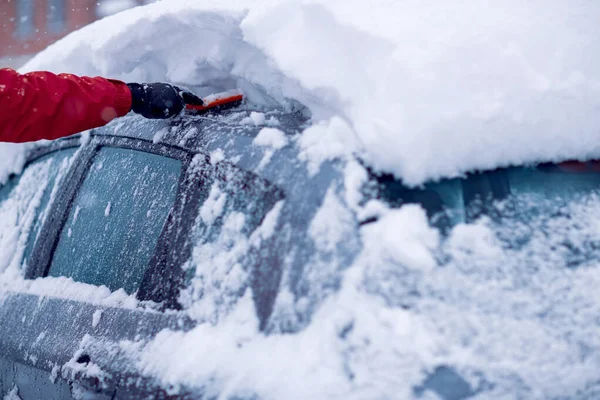
[[[297,154],[289,140],[307,121],[300,113],[268,114],[127,117],[29,150],[23,173],[0,189],[0,219],[10,221],[0,237],[13,240],[15,249],[3,257],[22,265],[26,278],[8,288],[0,306],[0,393],[18,392],[24,400],[201,398],[198,389],[146,377],[131,348],[163,329],[190,331],[201,324],[190,318],[195,307],[210,300],[215,310],[225,309],[247,288],[258,329],[268,335],[281,291],[301,296],[315,290],[302,287],[300,278],[282,287],[282,266],[314,273],[303,268],[315,252],[310,221],[343,175],[335,163],[311,176],[290,162]],[[254,123],[266,118],[278,128]],[[268,165],[257,169],[265,157]],[[495,224],[507,234],[506,247],[517,250],[536,235],[550,240],[545,224],[578,223],[599,184],[597,163],[563,163],[473,173],[420,188],[371,173],[361,190],[375,204],[420,205],[446,234],[487,218],[484,224]],[[376,211],[366,212],[352,230],[377,220]],[[598,238],[568,240],[561,236],[556,246],[570,267],[597,259]],[[338,260],[341,268],[350,266],[356,241],[349,236],[331,253],[347,257]],[[192,279],[198,268],[207,282]],[[411,279],[410,271],[395,273]],[[406,283],[380,293],[414,307],[417,294],[403,292],[410,289]],[[477,388],[440,366],[414,390],[463,399]]]

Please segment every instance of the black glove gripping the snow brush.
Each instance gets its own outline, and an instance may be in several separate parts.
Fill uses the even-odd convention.
[[[186,104],[203,105],[200,97],[168,83],[128,83],[131,90],[131,111],[146,118],[173,117]]]

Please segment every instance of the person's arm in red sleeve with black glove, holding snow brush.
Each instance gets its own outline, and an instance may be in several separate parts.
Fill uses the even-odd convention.
[[[71,74],[0,69],[0,142],[58,139],[106,125],[129,111],[170,118],[198,96],[168,83],[129,83]]]

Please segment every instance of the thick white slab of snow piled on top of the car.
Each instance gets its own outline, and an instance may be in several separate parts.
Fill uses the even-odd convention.
[[[346,151],[419,184],[600,156],[598,21],[584,0],[172,0],[85,27],[24,70],[296,100],[348,123],[360,147]]]

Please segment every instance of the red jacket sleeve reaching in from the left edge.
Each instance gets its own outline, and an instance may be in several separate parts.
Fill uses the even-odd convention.
[[[0,142],[57,139],[130,109],[131,91],[120,81],[0,69]]]

